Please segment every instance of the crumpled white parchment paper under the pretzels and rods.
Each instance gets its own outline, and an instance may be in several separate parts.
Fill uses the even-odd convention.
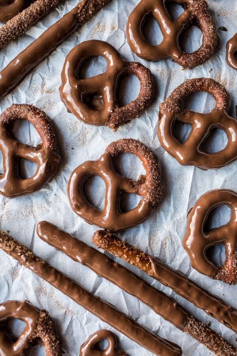
[[[152,255],[160,257],[172,268],[181,270],[199,285],[237,307],[237,286],[225,285],[196,272],[190,267],[189,259],[181,245],[185,233],[186,213],[202,193],[215,188],[230,188],[237,191],[236,162],[228,167],[208,171],[201,171],[193,167],[182,167],[175,159],[164,152],[156,137],[158,105],[177,85],[189,78],[203,76],[213,78],[224,85],[230,96],[229,114],[234,115],[237,100],[236,72],[225,64],[224,57],[225,43],[236,32],[236,1],[209,0],[209,8],[214,14],[217,28],[225,26],[228,31],[218,30],[219,50],[211,60],[191,71],[187,69],[182,71],[181,67],[173,64],[170,59],[148,63],[140,60],[130,51],[124,28],[127,16],[136,3],[137,0],[129,2],[112,0],[97,16],[76,34],[70,36],[49,58],[44,60],[18,88],[0,102],[1,112],[12,103],[34,104],[44,110],[53,121],[63,155],[63,162],[58,173],[40,191],[13,200],[0,196],[0,229],[8,230],[12,236],[28,246],[38,256],[71,276],[87,290],[111,302],[140,324],[160,336],[178,343],[182,347],[184,355],[209,355],[211,352],[204,346],[150,311],[137,299],[124,293],[106,280],[97,277],[88,268],[71,261],[53,248],[48,247],[35,234],[37,222],[48,220],[84,242],[91,244],[91,237],[96,227],[81,220],[72,212],[68,204],[66,185],[70,173],[83,161],[97,159],[112,141],[130,137],[139,139],[151,148],[159,159],[165,196],[163,202],[159,204],[149,219],[139,226],[120,233],[119,237]],[[27,35],[1,50],[0,69],[4,68],[15,55],[37,38],[55,20],[59,19],[62,14],[71,10],[75,4],[76,0],[68,0],[31,28]],[[189,43],[189,48],[192,46],[197,48],[199,44],[198,30],[195,29],[193,34],[194,40]],[[150,68],[156,80],[156,100],[151,107],[138,119],[120,127],[116,133],[108,128],[84,125],[72,114],[66,112],[59,99],[60,72],[65,56],[75,45],[90,39],[107,41],[119,50],[126,60],[141,62]],[[137,81],[133,80],[131,87],[134,95],[134,92],[138,91]],[[130,91],[128,90],[128,92]],[[192,107],[202,112],[203,110],[208,111],[212,106],[213,100],[209,96],[199,95],[198,101],[195,100]],[[31,126],[26,123],[19,127],[21,129],[20,138],[24,142],[32,145],[38,143],[38,137]],[[130,158],[128,157],[129,164],[127,164],[127,160],[123,160],[123,162],[126,162],[126,173],[132,176],[135,171],[134,166],[137,166],[138,176],[141,170],[140,163],[137,165],[137,160]],[[137,178],[137,176],[133,177]],[[98,192],[95,201],[96,199],[98,203],[101,203],[101,194]],[[217,222],[220,215],[216,217]],[[86,312],[82,307],[29,270],[18,266],[11,257],[3,252],[0,252],[0,262],[0,301],[27,299],[39,308],[48,310],[63,341],[63,349],[66,354],[77,355],[80,345],[92,332],[99,328],[110,328],[106,323]],[[126,265],[125,263],[122,264]],[[236,334],[228,328],[208,317],[185,299],[175,295],[169,288],[163,287],[131,266],[126,265],[126,267],[134,270],[135,273],[158,289],[164,290],[166,294],[172,296],[202,321],[211,321],[211,327],[214,330],[236,344]],[[130,356],[151,354],[117,331],[116,334],[120,340],[120,348],[124,348]]]

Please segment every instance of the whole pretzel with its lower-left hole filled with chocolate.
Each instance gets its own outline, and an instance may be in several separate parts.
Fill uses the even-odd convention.
[[[92,56],[105,58],[106,71],[81,79],[80,68]],[[135,100],[119,106],[116,101],[118,79],[129,74],[138,78],[140,92]],[[66,57],[61,80],[60,97],[69,112],[87,124],[104,125],[112,130],[137,117],[154,96],[150,71],[140,63],[124,61],[111,45],[103,41],[86,41],[73,48]]]

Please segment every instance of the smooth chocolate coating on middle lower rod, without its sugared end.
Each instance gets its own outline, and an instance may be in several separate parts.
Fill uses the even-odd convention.
[[[184,327],[187,312],[180,305],[161,291],[151,287],[134,273],[113,262],[105,254],[46,221],[38,223],[37,234],[43,241],[64,252],[74,261],[92,269],[99,276],[141,300],[179,329]]]

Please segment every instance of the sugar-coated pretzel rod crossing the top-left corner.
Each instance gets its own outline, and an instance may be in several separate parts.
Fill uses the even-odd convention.
[[[24,34],[63,0],[36,0],[0,28],[0,48]]]

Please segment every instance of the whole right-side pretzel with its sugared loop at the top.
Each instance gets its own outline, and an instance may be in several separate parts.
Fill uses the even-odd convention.
[[[206,92],[213,96],[216,105],[210,113],[199,114],[180,108],[181,101],[195,92]],[[228,96],[220,84],[206,78],[187,80],[159,106],[157,135],[161,146],[182,165],[193,165],[201,169],[225,166],[237,157],[237,121],[227,115],[227,107]],[[173,136],[175,120],[191,126],[191,132],[184,143]],[[201,145],[213,128],[222,129],[228,143],[218,152],[203,152]]]

